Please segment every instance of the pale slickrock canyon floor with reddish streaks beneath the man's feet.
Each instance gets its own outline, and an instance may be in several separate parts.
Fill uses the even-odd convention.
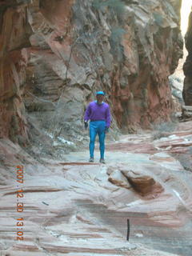
[[[98,163],[97,150],[93,164],[86,162],[88,150],[41,164],[2,139],[0,255],[190,256],[192,172],[175,157],[192,162],[191,126],[180,123],[156,140],[122,135],[107,144],[106,165]]]

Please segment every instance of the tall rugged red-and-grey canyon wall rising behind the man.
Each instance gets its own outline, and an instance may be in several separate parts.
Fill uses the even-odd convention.
[[[2,1],[1,138],[81,145],[96,90],[106,91],[114,128],[169,120],[180,7],[181,0]]]

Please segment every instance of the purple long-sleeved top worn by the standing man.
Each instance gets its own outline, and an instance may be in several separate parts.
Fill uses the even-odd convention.
[[[106,102],[102,102],[102,104],[90,102],[86,108],[84,120],[104,120],[106,121],[106,127],[110,127],[110,106]]]

